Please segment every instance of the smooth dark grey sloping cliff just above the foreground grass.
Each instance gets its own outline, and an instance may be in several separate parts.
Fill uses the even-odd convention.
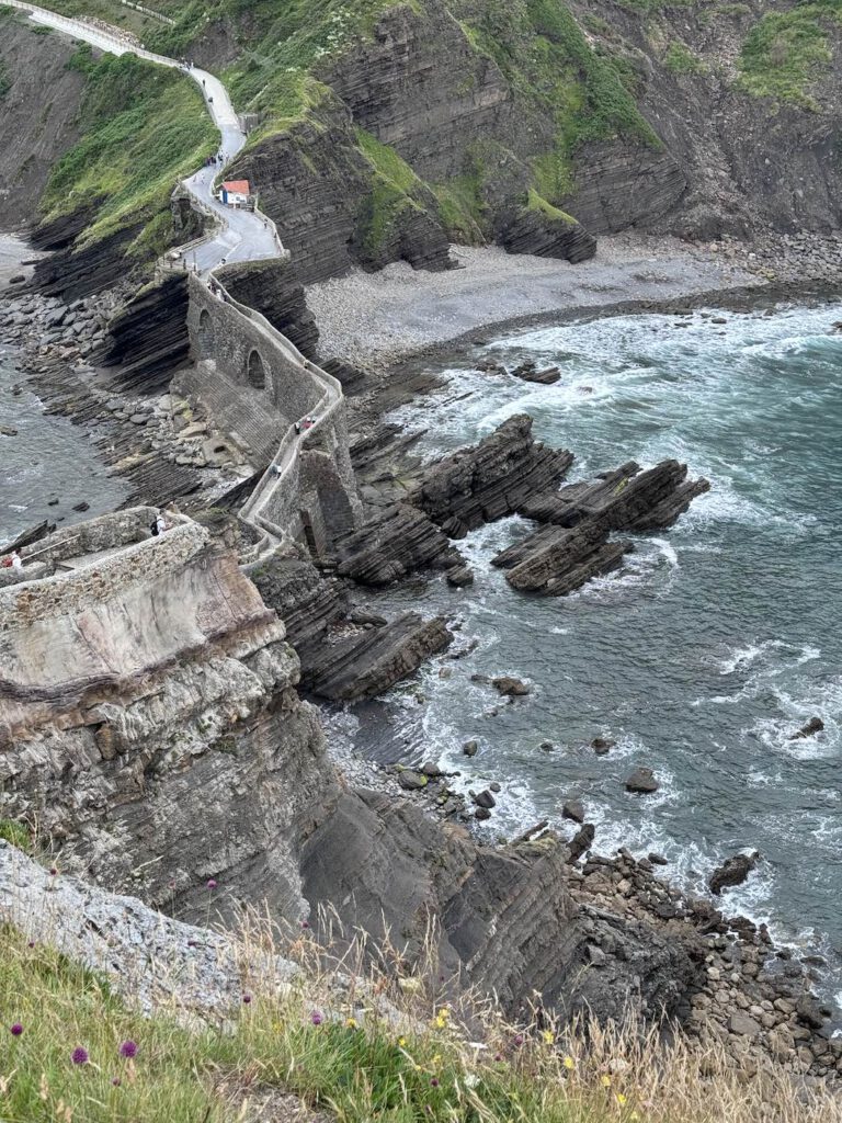
[[[347,924],[381,938],[390,931],[410,961],[438,919],[440,973],[493,989],[512,1014],[530,989],[564,1013],[588,1006],[611,1016],[630,1002],[649,1015],[672,1010],[697,974],[686,948],[644,924],[579,912],[565,858],[551,832],[537,843],[477,847],[411,804],[356,791],[308,840],[302,869],[311,903],[345,901]],[[605,967],[586,970],[588,947],[607,947],[610,937]],[[622,962],[634,965],[633,993]]]

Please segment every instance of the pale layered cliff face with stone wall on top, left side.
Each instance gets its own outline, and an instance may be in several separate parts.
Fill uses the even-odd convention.
[[[180,915],[207,913],[209,878],[223,915],[263,897],[302,914],[298,840],[337,780],[283,623],[232,554],[185,520],[3,590],[0,650],[0,814]]]

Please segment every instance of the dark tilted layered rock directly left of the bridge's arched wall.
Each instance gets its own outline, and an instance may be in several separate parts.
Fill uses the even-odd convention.
[[[117,367],[116,382],[132,393],[161,393],[190,357],[186,275],[173,273],[141,289],[108,325],[91,362]]]

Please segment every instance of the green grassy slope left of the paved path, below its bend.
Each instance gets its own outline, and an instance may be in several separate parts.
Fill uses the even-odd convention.
[[[85,76],[82,136],[53,168],[43,218],[95,202],[80,245],[139,227],[130,252],[152,259],[171,244],[173,188],[214,150],[219,134],[192,81],[175,71],[132,55],[94,61],[88,46],[71,65]]]

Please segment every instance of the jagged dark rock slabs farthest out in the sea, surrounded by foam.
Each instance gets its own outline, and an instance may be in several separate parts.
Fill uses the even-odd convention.
[[[524,502],[525,517],[550,526],[502,550],[492,565],[507,570],[513,588],[565,596],[615,569],[633,548],[628,541],[610,541],[612,531],[668,527],[710,486],[704,478],[687,480],[687,465],[677,460],[647,472],[630,462],[593,483],[570,484]]]

